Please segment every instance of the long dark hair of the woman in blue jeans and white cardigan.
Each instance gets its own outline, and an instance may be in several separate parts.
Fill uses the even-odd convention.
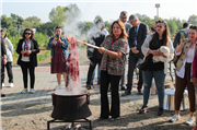
[[[158,23],[163,23],[164,26],[165,26],[165,31],[163,32],[163,35],[162,35],[162,40],[164,43],[164,46],[167,46],[169,45],[169,39],[170,39],[170,36],[171,36],[171,34],[169,32],[167,23],[165,21],[158,21]],[[158,43],[159,43],[159,33],[158,32],[153,33],[153,37],[152,37],[151,43],[153,45],[155,45],[155,46],[158,45]]]

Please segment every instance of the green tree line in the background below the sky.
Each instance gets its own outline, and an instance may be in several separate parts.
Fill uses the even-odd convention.
[[[7,29],[10,36],[20,35],[19,28],[25,28],[25,27],[34,27],[36,28],[36,32],[42,33],[43,35],[53,36],[55,26],[57,25],[62,26],[65,22],[72,21],[74,20],[74,17],[78,17],[80,15],[81,15],[81,10],[78,8],[77,4],[69,4],[68,7],[58,5],[57,8],[51,9],[51,11],[48,14],[50,21],[47,23],[40,23],[40,19],[37,16],[28,16],[24,19],[20,15],[11,13],[10,16],[1,15],[0,28]],[[158,20],[165,20],[169,24],[170,32],[172,35],[174,35],[178,29],[182,29],[184,22],[189,22],[190,24],[197,25],[197,15],[195,14],[192,14],[188,20],[179,20],[176,17],[166,20],[158,16],[151,19],[146,14],[139,14],[139,13],[137,13],[136,15],[139,17],[141,22],[149,25],[149,27],[152,27],[154,25],[154,22]],[[91,22],[81,21],[78,23],[78,28],[81,31],[82,34],[88,33],[88,31],[94,26],[94,22],[96,19],[102,19],[102,16],[96,15],[95,19]],[[109,26],[113,21],[104,21],[104,22],[106,25],[106,29],[109,31]]]

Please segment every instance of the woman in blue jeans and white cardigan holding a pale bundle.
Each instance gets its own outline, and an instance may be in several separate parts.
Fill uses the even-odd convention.
[[[166,46],[170,49],[170,56],[165,57],[164,61],[154,61],[153,56],[164,56],[163,52],[159,50],[161,46]],[[164,105],[164,82],[167,72],[167,62],[174,57],[174,48],[170,38],[169,27],[165,21],[158,21],[157,32],[150,34],[143,45],[141,50],[147,60],[147,67],[142,71],[143,76],[143,106],[139,110],[140,114],[148,113],[148,103],[151,93],[152,79],[154,78],[155,86],[159,97],[159,110],[158,115],[163,115]]]

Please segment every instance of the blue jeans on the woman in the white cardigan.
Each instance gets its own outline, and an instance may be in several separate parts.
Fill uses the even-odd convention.
[[[149,105],[149,97],[151,94],[152,79],[154,78],[155,87],[158,91],[159,107],[164,106],[164,83],[165,83],[164,70],[159,71],[142,71],[143,76],[143,106]]]

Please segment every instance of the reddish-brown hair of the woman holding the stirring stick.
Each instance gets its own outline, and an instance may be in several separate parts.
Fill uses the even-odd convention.
[[[125,25],[124,25],[124,23],[121,22],[121,21],[114,21],[113,22],[113,24],[111,25],[111,37],[114,39],[114,34],[113,34],[113,26],[114,26],[114,24],[115,23],[117,23],[119,26],[120,26],[120,28],[121,28],[121,34],[120,34],[120,36],[119,37],[123,37],[124,39],[126,39],[127,40],[127,33],[126,33],[126,31],[125,31]]]

